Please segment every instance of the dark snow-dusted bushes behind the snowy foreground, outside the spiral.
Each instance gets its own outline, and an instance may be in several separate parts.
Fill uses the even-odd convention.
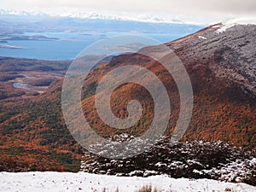
[[[121,135],[114,139],[119,141],[129,137]],[[102,150],[110,147],[97,146]],[[85,153],[80,171],[123,177],[166,174],[171,177],[211,178],[223,182],[251,184],[255,177],[255,167],[255,151],[244,151],[220,141],[193,141],[170,145],[169,140],[163,138],[148,152],[130,159],[108,160]]]

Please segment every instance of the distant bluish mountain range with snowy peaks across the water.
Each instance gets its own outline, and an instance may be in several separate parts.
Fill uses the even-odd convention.
[[[101,15],[75,12],[49,15],[35,11],[0,9],[1,34],[20,32],[164,32],[189,34],[203,26],[181,20],[163,20],[152,15]]]

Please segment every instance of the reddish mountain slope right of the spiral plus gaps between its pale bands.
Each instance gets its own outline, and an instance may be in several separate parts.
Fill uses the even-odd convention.
[[[194,111],[183,139],[222,140],[237,146],[255,148],[256,26],[238,25],[225,32],[218,32],[220,27],[220,24],[209,26],[200,32],[166,44],[174,49],[183,61],[194,90]],[[88,88],[91,84],[96,87],[104,74],[127,64],[148,68],[166,85],[172,103],[171,121],[166,136],[172,136],[172,129],[179,113],[177,86],[159,63],[143,55],[119,55],[93,70],[84,87]],[[102,136],[109,137],[120,133],[98,118],[94,96],[91,93],[87,96],[86,94],[83,101],[84,115],[90,125]],[[125,130],[129,134],[142,134],[147,129],[147,119],[150,119],[148,116],[153,113],[148,92],[137,85],[125,84],[113,91],[112,96],[113,103],[119,103],[118,107],[112,106],[113,113],[121,118],[127,115],[125,105],[133,96],[137,96],[138,101],[143,102],[144,106],[149,103],[140,123]],[[120,100],[122,102],[119,102]]]

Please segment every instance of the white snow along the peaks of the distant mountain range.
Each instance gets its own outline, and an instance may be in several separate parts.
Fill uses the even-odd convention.
[[[102,12],[96,9],[61,7],[58,9],[47,9],[44,12],[38,8],[25,9],[20,11],[15,9],[0,9],[0,15],[26,15],[26,16],[49,16],[49,17],[70,17],[77,19],[91,20],[132,20],[148,23],[172,23],[172,24],[188,24],[195,26],[206,26],[204,22],[195,22],[191,20],[177,19],[177,15],[150,15],[150,14],[134,14],[127,12]]]

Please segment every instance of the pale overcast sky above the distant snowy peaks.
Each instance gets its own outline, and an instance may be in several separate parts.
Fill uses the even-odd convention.
[[[155,15],[198,23],[256,17],[256,0],[0,0],[1,9]]]

